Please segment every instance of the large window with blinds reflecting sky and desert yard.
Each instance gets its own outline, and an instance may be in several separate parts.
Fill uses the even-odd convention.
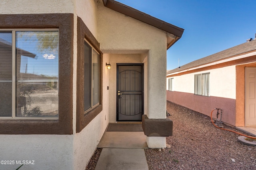
[[[58,29],[0,30],[0,118],[58,119]]]

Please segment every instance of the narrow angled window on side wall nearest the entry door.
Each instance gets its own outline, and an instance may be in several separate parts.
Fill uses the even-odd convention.
[[[99,104],[99,59],[96,50],[84,41],[84,111]]]

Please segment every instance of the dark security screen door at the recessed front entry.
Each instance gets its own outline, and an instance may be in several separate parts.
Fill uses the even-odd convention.
[[[143,65],[117,64],[117,121],[141,121]]]

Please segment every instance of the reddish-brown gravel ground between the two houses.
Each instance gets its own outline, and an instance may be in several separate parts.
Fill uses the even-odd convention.
[[[173,136],[166,137],[170,148],[145,149],[149,170],[256,170],[256,147],[240,143],[240,135],[218,129],[210,117],[171,102],[167,111],[173,121]],[[96,150],[86,170],[95,168],[100,152]]]

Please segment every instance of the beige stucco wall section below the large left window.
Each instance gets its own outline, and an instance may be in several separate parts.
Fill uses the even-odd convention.
[[[1,170],[15,170],[16,160],[34,160],[24,164],[26,170],[73,169],[73,135],[0,135],[0,159],[14,160]],[[21,168],[21,169],[22,169]]]

